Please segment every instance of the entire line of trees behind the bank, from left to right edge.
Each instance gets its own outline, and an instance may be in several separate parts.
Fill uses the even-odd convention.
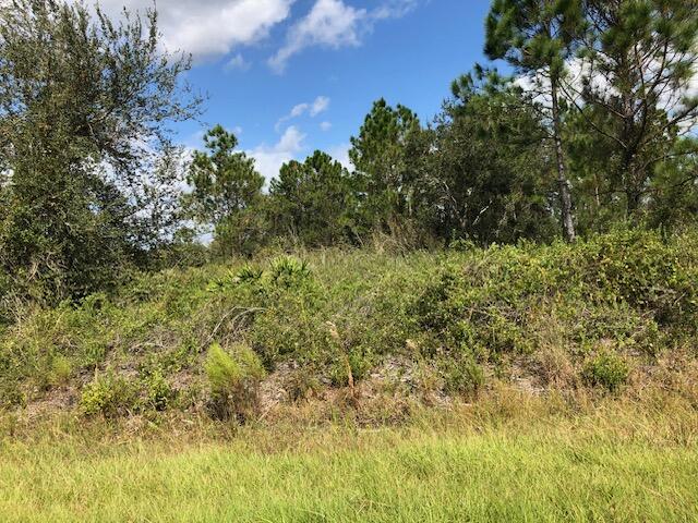
[[[0,8],[0,295],[80,297],[130,268],[278,242],[547,242],[698,216],[698,2],[495,0],[485,52],[421,122],[381,99],[348,170],[316,151],[265,188],[221,126],[188,160],[168,125],[201,99],[157,14]],[[186,180],[186,188],[183,188]],[[213,245],[197,238],[213,231]],[[189,256],[189,257],[188,257]]]

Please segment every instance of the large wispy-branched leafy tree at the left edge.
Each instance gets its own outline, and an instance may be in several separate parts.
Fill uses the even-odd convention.
[[[116,23],[82,2],[0,10],[0,166],[12,172],[0,180],[0,272],[16,299],[113,289],[166,242],[180,181],[163,166],[174,154],[166,127],[197,100],[156,22],[148,11]]]

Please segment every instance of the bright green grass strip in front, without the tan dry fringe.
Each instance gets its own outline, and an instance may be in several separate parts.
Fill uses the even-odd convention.
[[[5,442],[0,521],[696,521],[693,438],[576,425]]]

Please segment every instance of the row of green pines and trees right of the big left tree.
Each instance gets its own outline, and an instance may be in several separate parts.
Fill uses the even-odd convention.
[[[316,151],[284,166],[268,194],[216,127],[190,178],[195,217],[230,252],[376,231],[413,245],[574,241],[693,220],[697,35],[696,2],[496,0],[485,52],[513,76],[477,65],[428,125],[381,99],[351,139],[352,171]]]

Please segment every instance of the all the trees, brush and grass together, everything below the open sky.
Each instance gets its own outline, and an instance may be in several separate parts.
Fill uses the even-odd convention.
[[[695,516],[697,2],[493,0],[268,191],[154,9],[0,5],[0,519]]]

